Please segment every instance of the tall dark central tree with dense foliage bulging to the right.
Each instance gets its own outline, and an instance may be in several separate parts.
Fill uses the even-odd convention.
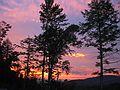
[[[40,21],[42,23],[43,33],[39,37],[39,46],[42,46],[43,62],[48,64],[48,82],[52,80],[52,71],[54,65],[58,63],[62,55],[70,52],[69,45],[76,42],[75,32],[78,26],[66,26],[66,15],[60,5],[54,4],[54,0],[45,0],[41,4]],[[44,64],[43,64],[44,69]]]

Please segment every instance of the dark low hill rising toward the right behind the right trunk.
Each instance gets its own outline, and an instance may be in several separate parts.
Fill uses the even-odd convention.
[[[103,90],[120,90],[120,76],[104,76]],[[100,77],[65,82],[64,90],[100,90]]]

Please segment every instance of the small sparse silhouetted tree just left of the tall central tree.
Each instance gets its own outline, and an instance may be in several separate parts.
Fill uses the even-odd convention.
[[[34,39],[30,37],[25,38],[21,40],[20,45],[15,46],[22,49],[22,51],[19,52],[20,56],[24,56],[24,60],[21,60],[21,63],[23,65],[25,64],[25,77],[29,78],[30,69],[35,69],[35,63],[37,62]]]

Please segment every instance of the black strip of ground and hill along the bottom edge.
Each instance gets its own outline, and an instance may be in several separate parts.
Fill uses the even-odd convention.
[[[120,77],[119,76],[105,76],[103,80],[103,90],[120,90]],[[50,88],[51,86],[51,88]],[[72,80],[72,81],[52,81],[48,85],[37,82],[36,79],[0,79],[0,90],[100,90],[99,77],[85,79],[85,80]]]

